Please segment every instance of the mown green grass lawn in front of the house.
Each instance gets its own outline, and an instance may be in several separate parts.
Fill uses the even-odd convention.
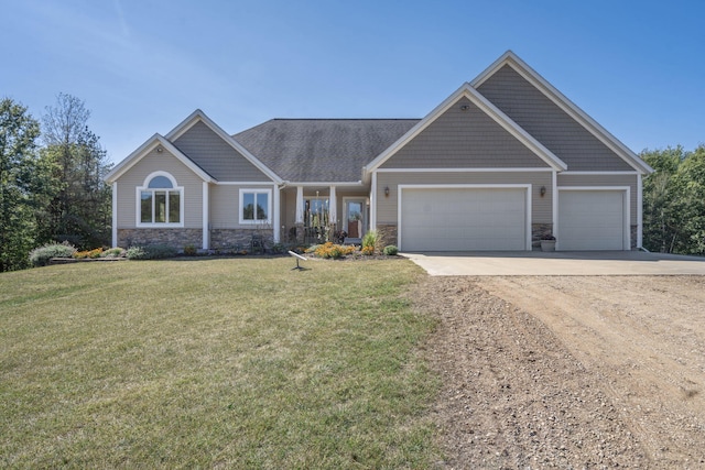
[[[0,274],[2,468],[429,468],[438,380],[408,261]]]

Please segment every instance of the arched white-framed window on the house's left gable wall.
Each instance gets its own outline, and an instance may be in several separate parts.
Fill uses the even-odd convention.
[[[183,227],[184,188],[165,172],[155,172],[138,188],[138,226]]]

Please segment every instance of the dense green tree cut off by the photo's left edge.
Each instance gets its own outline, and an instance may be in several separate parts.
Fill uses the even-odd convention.
[[[0,272],[28,266],[45,166],[36,157],[40,124],[10,98],[0,101]]]

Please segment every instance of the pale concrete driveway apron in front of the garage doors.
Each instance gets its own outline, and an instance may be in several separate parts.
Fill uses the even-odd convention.
[[[402,254],[432,276],[705,275],[705,258],[640,251]]]

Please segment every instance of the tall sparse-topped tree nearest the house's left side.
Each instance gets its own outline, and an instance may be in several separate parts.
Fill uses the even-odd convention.
[[[106,151],[87,125],[90,111],[80,99],[59,94],[43,117],[42,157],[54,168],[55,194],[46,207],[43,239],[67,240],[88,249],[110,242],[110,188]]]

